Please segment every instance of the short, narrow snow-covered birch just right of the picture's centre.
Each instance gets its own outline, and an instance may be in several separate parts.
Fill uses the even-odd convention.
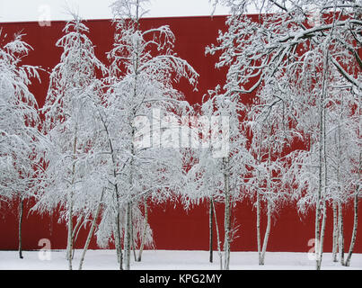
[[[219,255],[220,268],[228,270],[230,246],[236,237],[236,228],[232,227],[232,207],[234,202],[243,199],[244,177],[248,166],[252,166],[252,156],[245,145],[243,104],[240,99],[221,94],[218,87],[216,91],[210,91],[208,96],[201,107],[201,116],[204,118],[199,117],[198,126],[202,138],[200,147],[195,152],[196,163],[188,173],[190,184],[187,196],[190,201],[206,198],[224,202],[224,259],[221,259],[220,253]],[[196,135],[198,133],[197,131]],[[218,234],[218,228],[216,229]],[[220,242],[217,235],[219,250]]]

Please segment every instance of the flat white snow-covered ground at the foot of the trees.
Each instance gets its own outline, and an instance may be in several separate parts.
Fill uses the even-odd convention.
[[[78,268],[82,250],[75,251],[74,269]],[[49,255],[42,251],[23,251],[23,259],[17,251],[0,251],[0,270],[66,270],[65,251],[51,251]],[[257,252],[232,252],[230,269],[232,270],[313,270],[314,261],[307,253],[267,252],[265,266],[258,265]],[[84,259],[84,270],[117,269],[115,250],[89,250]],[[208,262],[207,251],[165,251],[146,250],[142,262],[131,263],[133,270],[217,270],[218,256],[214,263]],[[324,253],[324,270],[362,270],[362,254],[354,254],[349,267],[340,266],[331,261],[331,253]]]

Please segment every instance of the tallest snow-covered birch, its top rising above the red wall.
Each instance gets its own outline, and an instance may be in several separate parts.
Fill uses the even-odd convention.
[[[142,31],[140,18],[146,13],[145,4],[142,0],[111,4],[117,32],[108,55],[111,63],[107,105],[113,113],[105,122],[110,124],[114,146],[113,184],[119,187],[116,206],[125,213],[126,270],[130,268],[133,245],[132,215],[142,215],[134,209],[138,209],[142,199],[167,198],[181,183],[179,139],[170,139],[169,135],[177,129],[177,116],[190,111],[190,105],[173,85],[181,77],[196,85],[198,76],[187,61],[172,51],[175,39],[168,26]]]

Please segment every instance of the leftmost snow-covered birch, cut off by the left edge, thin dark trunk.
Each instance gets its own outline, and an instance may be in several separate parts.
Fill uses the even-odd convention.
[[[0,201],[19,200],[19,257],[22,258],[22,213],[41,170],[44,140],[38,130],[38,103],[31,91],[37,67],[22,65],[31,46],[21,34],[4,41],[0,30]]]

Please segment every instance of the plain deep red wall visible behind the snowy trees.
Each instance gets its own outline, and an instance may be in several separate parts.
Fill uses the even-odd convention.
[[[179,18],[157,18],[144,19],[143,28],[157,27],[163,24],[170,25],[176,37],[175,51],[181,58],[185,58],[198,71],[198,92],[180,83],[181,91],[186,95],[190,103],[199,103],[202,95],[208,89],[213,89],[218,83],[225,79],[225,70],[216,70],[217,56],[205,56],[205,46],[216,43],[217,31],[225,29],[225,17],[179,17]],[[23,40],[28,42],[34,49],[29,56],[23,59],[23,63],[41,66],[46,71],[40,71],[41,83],[37,80],[31,85],[33,92],[40,104],[44,103],[47,93],[49,74],[61,54],[61,49],[55,47],[57,39],[62,34],[64,22],[53,22],[50,27],[40,27],[38,23],[0,23],[3,27],[3,35],[7,33],[7,39],[14,32],[22,31],[26,35]],[[107,63],[105,53],[111,49],[114,29],[110,21],[89,21],[86,25],[90,29],[89,37],[96,46],[95,52],[98,58]],[[47,72],[48,71],[48,72]],[[26,203],[26,212],[23,220],[22,245],[24,249],[39,248],[40,238],[49,238],[52,248],[66,248],[66,225],[57,223],[57,213],[54,215],[40,216],[29,213],[32,203]],[[0,249],[17,248],[17,208],[6,205],[0,207]],[[346,248],[349,247],[349,239],[353,224],[352,205],[348,207],[345,214]],[[347,211],[347,209],[346,209]],[[216,213],[218,224],[223,225],[223,205],[217,204]],[[331,251],[332,218],[331,209],[328,210],[326,223],[325,251]],[[300,251],[307,252],[308,240],[313,238],[314,211],[306,216],[300,216],[295,205],[289,205],[280,209],[278,215],[273,219],[271,234],[269,237],[269,251]],[[150,225],[154,230],[155,247],[157,249],[203,249],[208,248],[208,214],[207,203],[200,204],[190,211],[184,211],[181,204],[174,205],[166,203],[159,207],[153,207],[149,215]],[[362,208],[359,212],[362,219]],[[265,217],[262,220],[266,220]],[[252,204],[244,201],[238,203],[233,209],[233,220],[240,225],[238,238],[232,243],[233,250],[252,251],[256,250],[256,214],[252,210]],[[262,225],[265,229],[265,223]],[[222,230],[222,229],[221,229]],[[362,221],[358,225],[358,238],[355,252],[362,253]],[[87,231],[82,229],[75,247],[83,247]],[[216,248],[216,237],[214,238]],[[91,248],[97,248],[95,240],[91,242]],[[111,246],[110,246],[111,247]]]

